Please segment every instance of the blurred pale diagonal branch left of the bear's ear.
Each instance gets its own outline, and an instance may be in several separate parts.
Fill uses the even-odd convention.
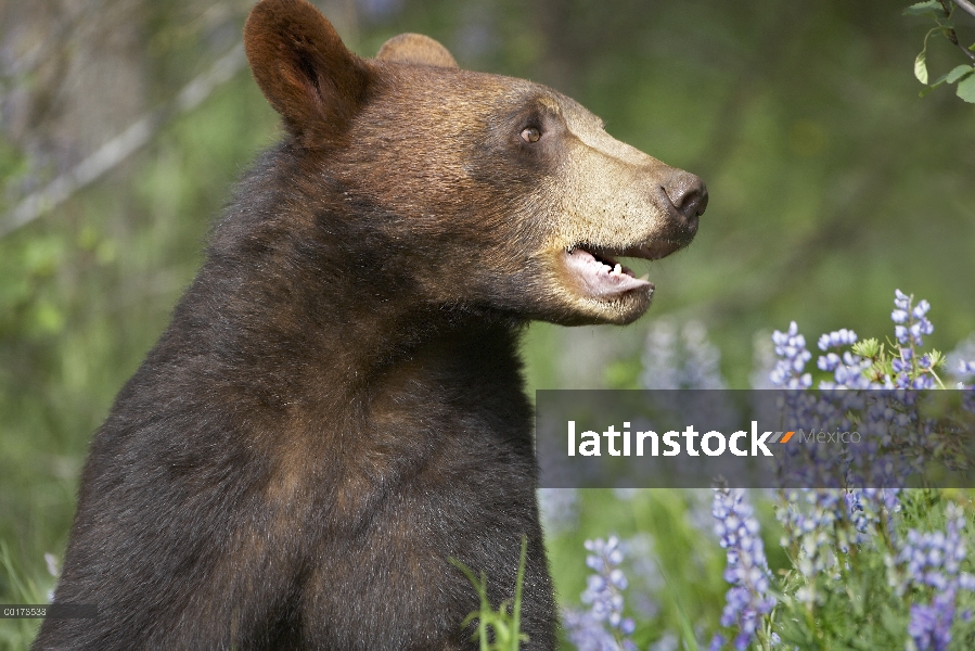
[[[167,104],[139,118],[128,129],[108,140],[70,170],[56,177],[42,190],[24,197],[0,220],[0,238],[34,221],[67,201],[81,188],[100,179],[152,140],[166,122],[198,106],[218,86],[228,81],[245,64],[244,46],[238,43],[218,59],[210,69],[187,84]]]

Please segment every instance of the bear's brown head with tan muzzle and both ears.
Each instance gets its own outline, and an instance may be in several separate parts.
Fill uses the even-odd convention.
[[[433,39],[401,35],[365,60],[305,0],[262,0],[244,43],[304,182],[368,221],[388,245],[364,255],[409,270],[411,301],[628,323],[654,286],[616,258],[662,258],[697,230],[697,177],[550,88],[460,69]]]

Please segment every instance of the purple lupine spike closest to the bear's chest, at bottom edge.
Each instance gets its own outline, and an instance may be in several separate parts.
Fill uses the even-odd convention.
[[[586,549],[591,552],[586,557],[586,564],[595,574],[589,576],[581,595],[589,610],[565,612],[569,641],[579,651],[636,651],[636,644],[629,639],[636,624],[623,616],[627,579],[619,569],[624,558],[619,539],[610,536],[607,540],[586,540]]]

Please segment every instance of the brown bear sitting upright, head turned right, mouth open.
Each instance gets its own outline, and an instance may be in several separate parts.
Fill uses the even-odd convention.
[[[36,649],[473,649],[477,596],[557,615],[516,349],[627,323],[616,261],[688,244],[696,177],[549,88],[403,35],[352,54],[265,0],[247,58],[286,135],[241,182],[172,322],[94,436]]]

